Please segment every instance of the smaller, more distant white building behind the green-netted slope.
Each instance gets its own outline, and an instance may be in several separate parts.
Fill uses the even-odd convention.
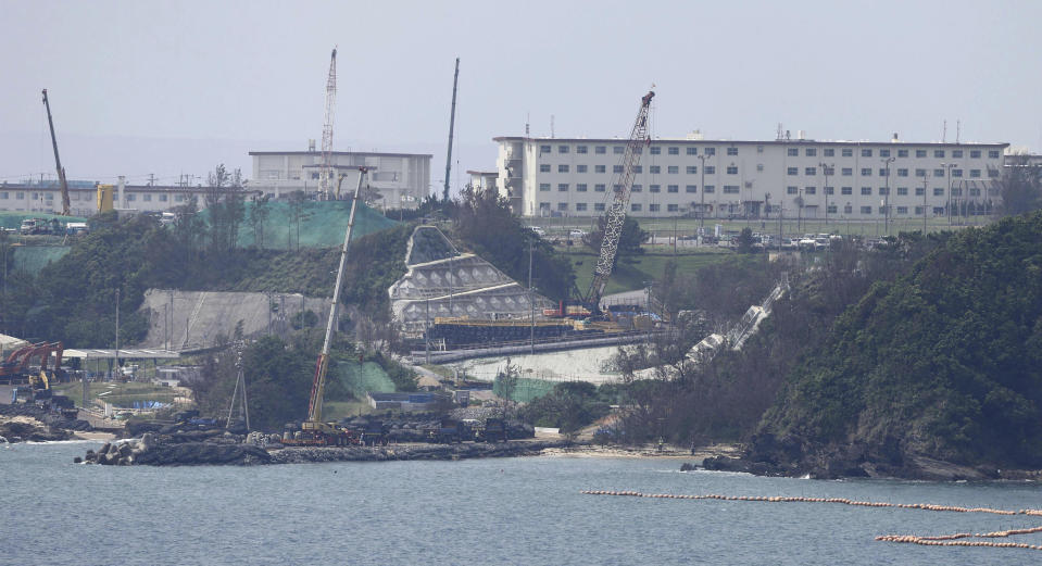
[[[251,190],[284,197],[297,190],[318,190],[322,153],[317,151],[251,151]],[[334,176],[368,167],[366,184],[379,191],[375,204],[381,209],[415,209],[430,191],[430,154],[335,151]],[[356,177],[355,177],[356,178]],[[351,190],[354,187],[350,187]],[[341,193],[346,191],[341,187]]]

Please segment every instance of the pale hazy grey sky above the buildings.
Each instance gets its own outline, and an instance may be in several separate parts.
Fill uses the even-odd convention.
[[[652,85],[654,136],[1009,142],[1042,151],[1037,1],[0,0],[0,181],[205,178],[248,152],[430,153],[452,191],[495,136],[627,135]],[[316,142],[319,142],[316,141]]]

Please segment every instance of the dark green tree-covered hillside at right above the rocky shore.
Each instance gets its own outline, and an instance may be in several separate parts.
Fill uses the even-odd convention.
[[[877,282],[790,373],[759,432],[806,452],[1042,465],[1042,213]]]

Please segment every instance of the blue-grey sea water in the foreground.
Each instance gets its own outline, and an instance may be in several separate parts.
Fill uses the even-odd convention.
[[[100,443],[0,445],[0,564],[1039,564],[1042,552],[877,542],[1042,517],[595,496],[799,495],[1042,508],[1027,482],[680,473],[676,460],[527,457],[260,467],[73,464]],[[999,539],[1003,540],[1003,539]],[[1042,544],[1042,534],[1015,542]]]

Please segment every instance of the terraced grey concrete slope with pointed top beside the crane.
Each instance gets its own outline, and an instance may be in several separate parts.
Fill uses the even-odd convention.
[[[528,320],[532,302],[539,318],[543,309],[553,306],[478,255],[456,251],[434,226],[413,230],[405,265],[409,271],[388,293],[394,319],[407,336],[420,336],[439,318]]]

